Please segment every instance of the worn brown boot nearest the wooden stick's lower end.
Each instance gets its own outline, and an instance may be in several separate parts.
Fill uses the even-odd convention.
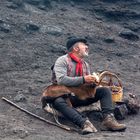
[[[97,132],[97,129],[93,126],[93,124],[89,120],[86,120],[82,128],[82,134],[85,135],[95,132]]]

